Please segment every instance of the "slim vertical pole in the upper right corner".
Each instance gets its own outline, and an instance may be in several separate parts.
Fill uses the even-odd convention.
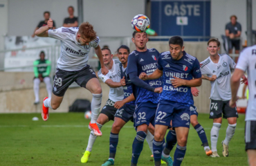
[[[246,15],[247,15],[247,46],[253,46],[253,24],[252,24],[252,0],[247,0]]]

